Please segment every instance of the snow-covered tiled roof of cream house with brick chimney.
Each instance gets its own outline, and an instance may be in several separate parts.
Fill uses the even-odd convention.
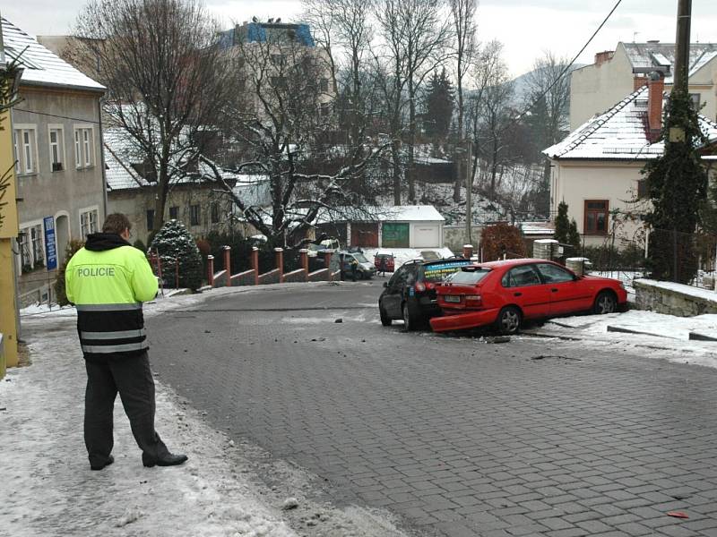
[[[652,143],[647,128],[647,87],[635,90],[602,115],[571,132],[564,141],[544,149],[549,158],[645,160],[662,154],[664,143]],[[717,124],[699,115],[708,140],[717,138]]]

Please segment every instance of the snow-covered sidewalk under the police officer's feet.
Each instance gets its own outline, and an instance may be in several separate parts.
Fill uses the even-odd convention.
[[[246,291],[222,293],[232,292]],[[171,302],[186,307],[207,298]],[[145,314],[170,307],[158,301]],[[0,536],[402,535],[384,512],[316,500],[314,476],[213,430],[160,379],[157,430],[189,461],[144,468],[117,397],[115,463],[91,472],[82,439],[86,376],[74,311],[33,315],[23,323],[32,364],[0,380]],[[264,473],[281,485],[267,487]],[[297,507],[282,510],[288,499]]]

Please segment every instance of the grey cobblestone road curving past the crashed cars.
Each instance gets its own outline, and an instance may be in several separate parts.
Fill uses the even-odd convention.
[[[149,322],[154,369],[217,427],[329,480],[335,501],[416,533],[717,535],[717,371],[654,349],[404,334],[362,309],[379,291],[168,312]]]

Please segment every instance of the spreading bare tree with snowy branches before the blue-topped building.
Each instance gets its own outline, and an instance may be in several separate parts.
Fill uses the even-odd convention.
[[[322,210],[360,205],[347,188],[380,149],[327,143],[335,124],[331,101],[318,83],[325,64],[316,47],[291,38],[240,41],[230,51],[241,65],[238,102],[229,110],[225,131],[241,142],[242,159],[231,172],[255,171],[269,184],[271,207],[250,203],[233,192],[227,170],[205,161],[210,178],[228,193],[246,220],[272,243],[314,226]]]

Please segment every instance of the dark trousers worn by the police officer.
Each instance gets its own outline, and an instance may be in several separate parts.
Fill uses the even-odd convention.
[[[87,389],[84,398],[84,443],[91,465],[104,465],[112,451],[112,413],[117,393],[125,407],[132,434],[142,449],[144,462],[168,454],[154,430],[154,379],[147,353],[113,356],[102,361],[85,360]]]

